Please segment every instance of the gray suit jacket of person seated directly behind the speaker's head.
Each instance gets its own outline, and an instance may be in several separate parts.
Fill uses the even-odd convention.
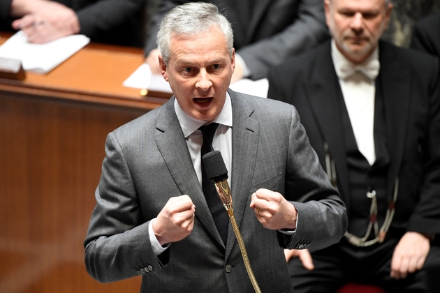
[[[161,1],[147,39],[145,52],[157,47],[156,35],[163,16],[189,0]],[[330,36],[325,25],[323,0],[210,0],[222,10],[234,31],[234,47],[253,80],[267,76],[270,66],[322,43]],[[252,11],[249,5],[253,4]]]

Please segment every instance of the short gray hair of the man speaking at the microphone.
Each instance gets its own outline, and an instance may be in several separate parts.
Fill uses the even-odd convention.
[[[234,36],[230,23],[219,8],[212,3],[189,2],[171,9],[161,22],[157,33],[157,45],[163,62],[168,66],[170,38],[173,33],[196,35],[217,26],[226,37],[230,58],[233,54]]]

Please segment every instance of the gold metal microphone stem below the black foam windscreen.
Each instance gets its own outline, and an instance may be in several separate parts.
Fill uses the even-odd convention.
[[[217,189],[217,193],[219,193],[219,197],[221,199],[221,202],[223,202],[223,206],[225,207],[226,211],[228,211],[229,220],[233,226],[235,237],[237,238],[238,241],[238,246],[240,246],[240,251],[242,253],[244,266],[246,267],[246,271],[249,276],[249,279],[251,280],[252,286],[254,286],[254,290],[256,293],[261,293],[260,287],[258,286],[258,283],[254,276],[254,271],[252,271],[251,263],[249,262],[249,258],[247,257],[247,251],[246,248],[244,247],[242,234],[238,229],[237,221],[235,221],[232,196],[230,195],[228,181],[224,180],[215,183],[215,188]]]

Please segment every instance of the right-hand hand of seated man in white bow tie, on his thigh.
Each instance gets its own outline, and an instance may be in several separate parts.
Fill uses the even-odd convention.
[[[430,238],[418,232],[406,232],[393,253],[391,278],[406,278],[422,268],[430,252]]]

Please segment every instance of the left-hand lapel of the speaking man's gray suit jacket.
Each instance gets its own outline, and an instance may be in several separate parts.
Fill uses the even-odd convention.
[[[196,205],[196,216],[210,231],[214,239],[223,245],[220,234],[215,227],[205,195],[194,170],[191,156],[174,110],[174,98],[161,107],[161,114],[156,123],[156,145],[161,152],[170,174],[182,195],[189,195]]]

